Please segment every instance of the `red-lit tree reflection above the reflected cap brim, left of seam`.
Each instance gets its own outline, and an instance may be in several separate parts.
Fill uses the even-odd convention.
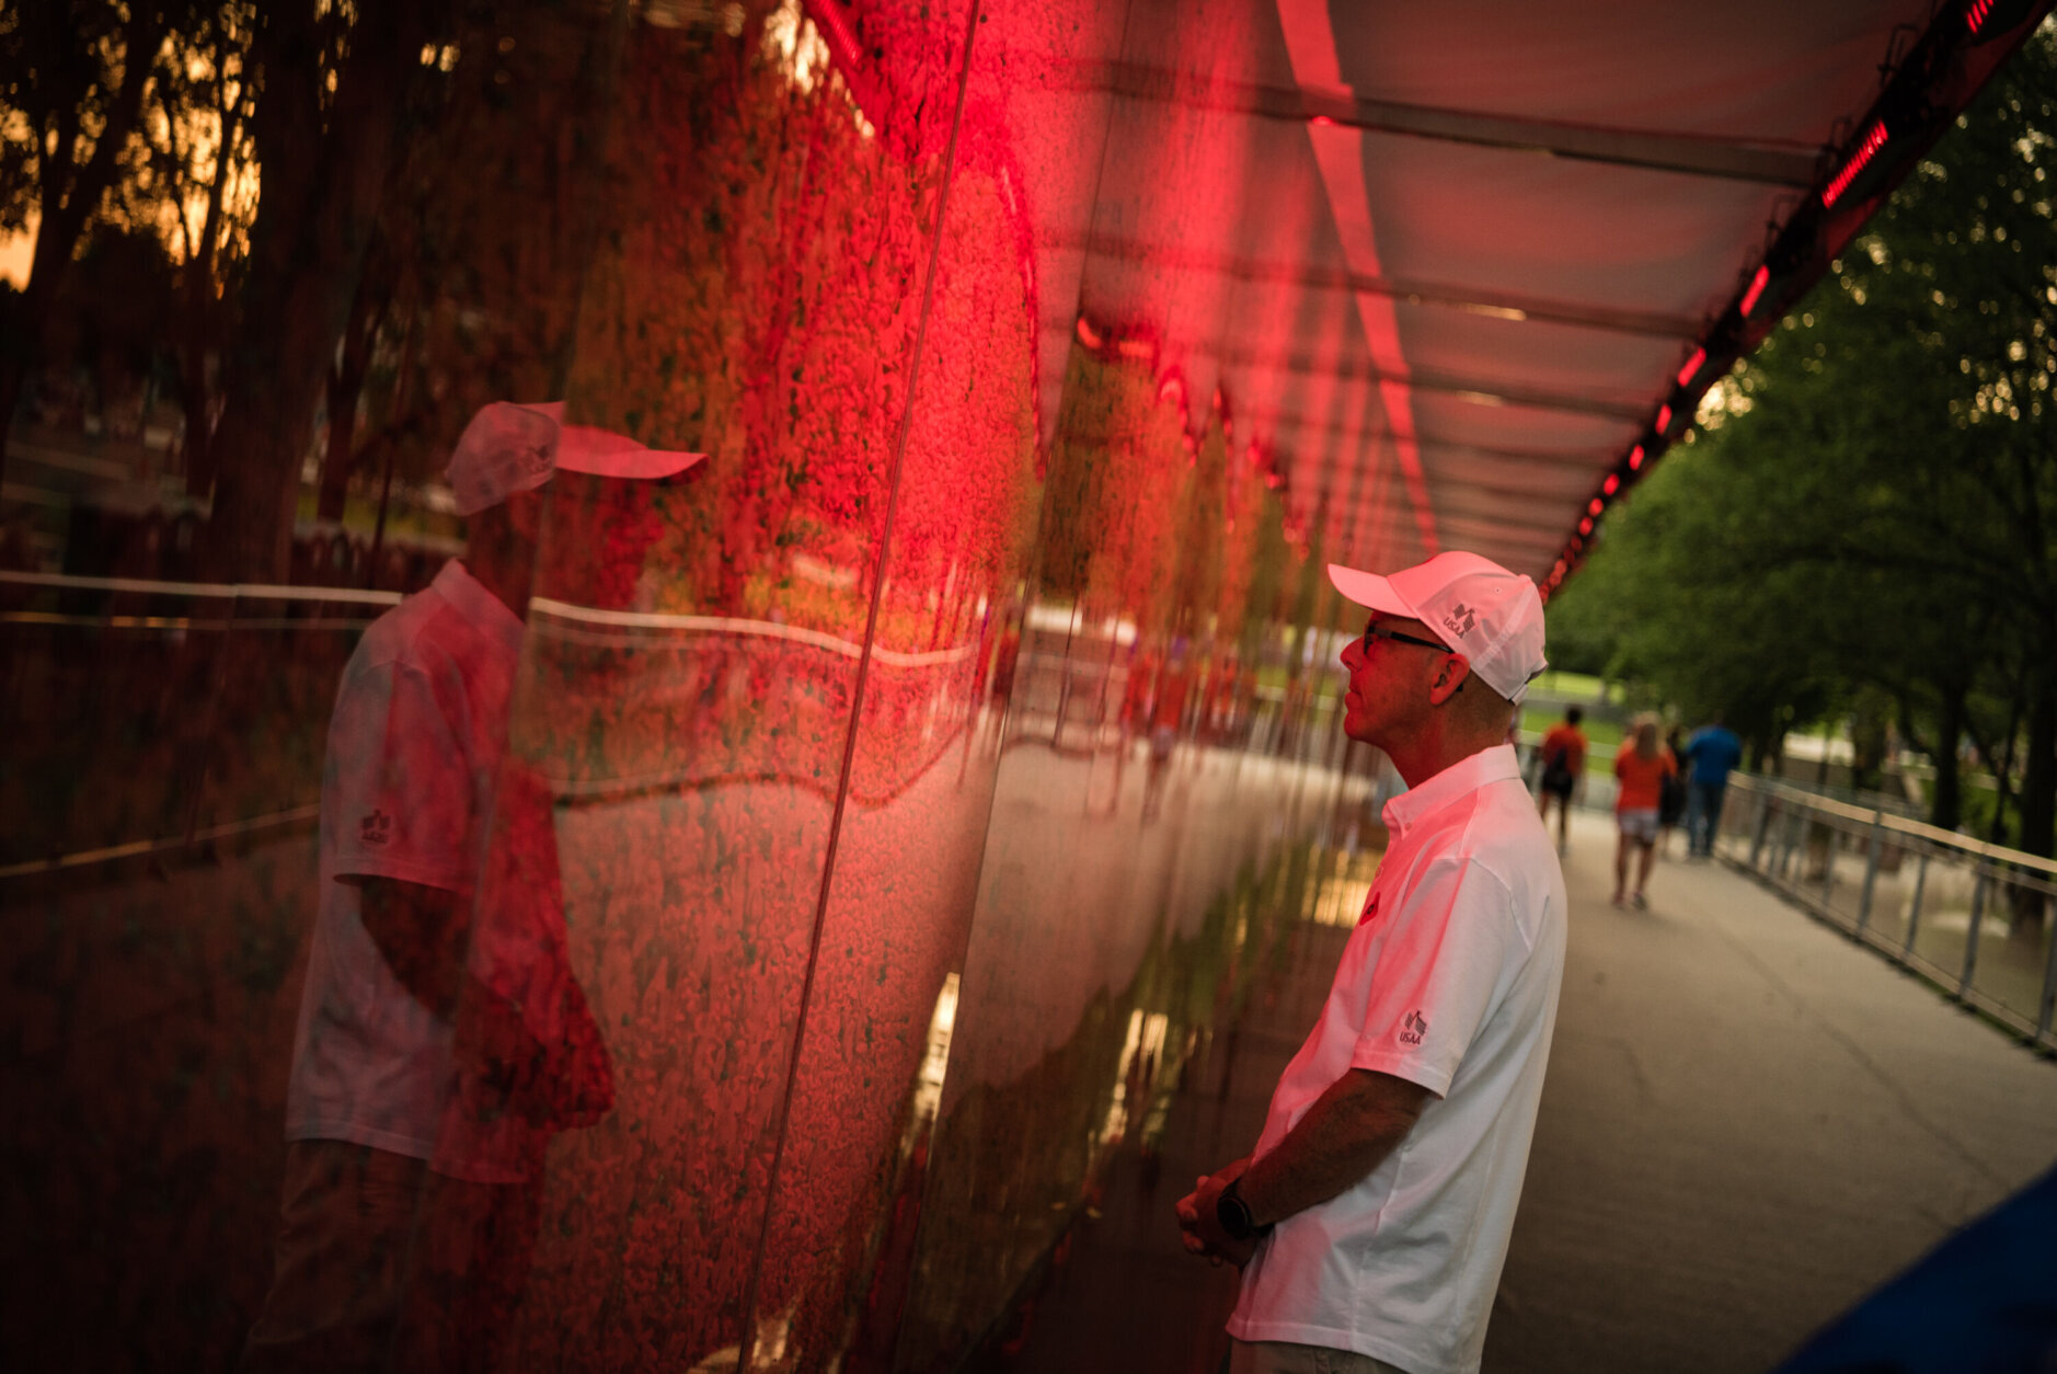
[[[570,393],[578,418],[710,455],[675,594],[751,613],[796,553],[870,572],[938,169],[866,138],[835,82],[664,33],[629,60],[621,125],[636,175],[613,183]]]

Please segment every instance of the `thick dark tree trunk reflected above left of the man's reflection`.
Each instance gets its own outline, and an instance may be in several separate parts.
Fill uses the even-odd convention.
[[[424,33],[413,4],[360,4],[348,68],[323,117],[313,10],[265,19],[253,123],[263,202],[251,230],[249,306],[224,360],[226,405],[214,434],[216,576],[274,582],[290,568],[315,401],[364,269],[401,111],[420,80]]]

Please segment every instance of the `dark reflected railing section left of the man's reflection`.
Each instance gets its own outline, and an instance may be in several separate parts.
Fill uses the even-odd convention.
[[[311,825],[335,683],[399,599],[0,570],[0,882]]]

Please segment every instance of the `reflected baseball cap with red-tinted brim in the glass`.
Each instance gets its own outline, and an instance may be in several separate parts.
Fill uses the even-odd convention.
[[[703,453],[646,448],[634,438],[588,424],[564,424],[564,401],[481,405],[450,450],[457,512],[477,514],[514,492],[533,492],[562,467],[594,477],[671,477]]]

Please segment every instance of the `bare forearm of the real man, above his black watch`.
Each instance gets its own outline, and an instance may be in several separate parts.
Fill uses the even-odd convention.
[[[1362,1183],[1421,1117],[1428,1088],[1349,1070],[1306,1111],[1271,1154],[1242,1174],[1238,1193],[1259,1226],[1325,1203]]]

